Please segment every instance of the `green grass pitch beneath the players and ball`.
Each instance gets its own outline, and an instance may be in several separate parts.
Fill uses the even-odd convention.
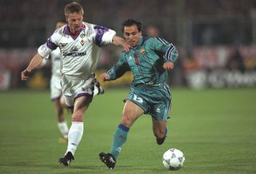
[[[155,142],[151,119],[135,122],[114,170],[98,160],[110,148],[128,89],[106,89],[85,117],[75,160],[58,164],[59,144],[49,91],[0,92],[0,173],[256,173],[256,89],[173,89],[165,144]],[[68,117],[70,119],[70,117]],[[162,165],[168,148],[185,153],[183,168]]]

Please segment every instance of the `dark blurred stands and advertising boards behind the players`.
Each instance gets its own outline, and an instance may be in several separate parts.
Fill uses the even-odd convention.
[[[48,89],[50,65],[22,82],[37,48],[64,18],[66,0],[1,0],[0,89]],[[193,89],[256,86],[255,0],[84,0],[84,21],[122,36],[121,23],[134,18],[143,34],[172,42],[179,51],[168,83]],[[106,45],[97,73],[118,60],[121,49]],[[132,75],[104,85],[126,86]]]

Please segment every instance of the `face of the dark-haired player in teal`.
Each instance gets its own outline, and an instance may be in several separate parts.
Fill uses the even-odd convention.
[[[124,27],[123,37],[131,47],[138,45],[138,42],[141,40],[141,36],[142,31],[138,31],[138,27],[136,25]]]

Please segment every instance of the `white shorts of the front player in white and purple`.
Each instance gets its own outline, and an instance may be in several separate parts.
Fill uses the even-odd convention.
[[[73,107],[74,101],[78,97],[93,97],[95,82],[95,75],[85,78],[63,75],[61,84],[66,105]]]

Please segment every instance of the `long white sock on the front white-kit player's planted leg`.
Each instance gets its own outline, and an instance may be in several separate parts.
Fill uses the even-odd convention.
[[[71,152],[74,156],[74,152],[78,148],[78,144],[82,139],[83,134],[83,122],[72,121],[70,127],[69,136],[68,136],[68,146],[66,149],[67,152]]]

